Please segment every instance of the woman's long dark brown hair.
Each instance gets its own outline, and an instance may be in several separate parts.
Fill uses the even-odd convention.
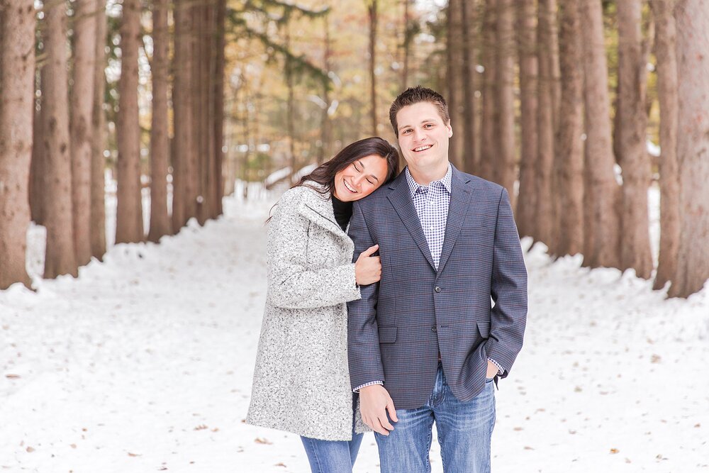
[[[335,186],[335,174],[351,165],[352,162],[361,160],[363,157],[369,155],[381,156],[386,160],[386,178],[384,179],[384,184],[391,182],[393,178],[396,177],[396,174],[398,174],[398,151],[389,144],[387,140],[373,136],[372,138],[364,138],[364,140],[355,141],[345,146],[333,159],[324,162],[322,165],[316,167],[310,174],[301,177],[298,184],[295,184],[293,187],[306,186],[315,189],[320,192],[320,194],[332,194],[333,187]],[[308,186],[308,184],[306,184],[308,181],[317,182],[320,184],[321,188]]]

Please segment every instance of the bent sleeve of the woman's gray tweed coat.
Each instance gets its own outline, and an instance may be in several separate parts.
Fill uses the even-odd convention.
[[[269,225],[268,299],[279,308],[316,308],[359,299],[354,264],[308,269],[308,221],[297,196],[281,199]]]

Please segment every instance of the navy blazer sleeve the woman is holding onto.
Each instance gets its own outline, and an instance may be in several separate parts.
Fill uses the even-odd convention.
[[[350,238],[354,241],[354,261],[359,253],[376,242],[367,228],[362,206],[355,202],[350,220]],[[352,389],[372,382],[384,382],[384,368],[379,352],[379,331],[376,326],[376,300],[379,283],[360,286],[362,299],[347,303],[347,357],[350,362]]]

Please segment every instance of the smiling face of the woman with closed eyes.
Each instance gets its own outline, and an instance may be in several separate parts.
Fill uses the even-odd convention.
[[[335,174],[333,194],[343,202],[358,201],[384,184],[386,171],[386,159],[379,155],[359,158]]]

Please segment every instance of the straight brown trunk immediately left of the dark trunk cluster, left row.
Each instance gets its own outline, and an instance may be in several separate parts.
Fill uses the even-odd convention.
[[[169,32],[167,0],[152,4],[152,123],[150,126],[150,233],[147,239],[157,243],[169,235],[167,215],[167,157],[169,136],[167,95],[169,77]]]

